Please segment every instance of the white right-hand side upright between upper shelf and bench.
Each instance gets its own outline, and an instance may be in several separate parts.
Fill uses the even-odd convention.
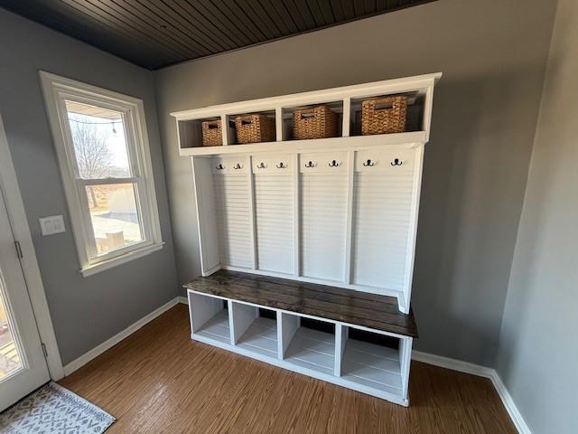
[[[414,167],[414,191],[412,192],[412,206],[409,216],[409,247],[406,257],[406,278],[404,281],[403,299],[397,297],[399,310],[404,314],[409,314],[410,300],[412,297],[412,285],[414,279],[414,261],[415,261],[415,241],[417,239],[417,219],[419,214],[419,199],[422,189],[422,165],[424,164],[424,145],[420,144],[415,148],[415,167]]]

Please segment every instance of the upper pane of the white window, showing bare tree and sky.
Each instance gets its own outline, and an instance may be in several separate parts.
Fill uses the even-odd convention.
[[[131,176],[122,114],[74,101],[66,110],[80,177]]]

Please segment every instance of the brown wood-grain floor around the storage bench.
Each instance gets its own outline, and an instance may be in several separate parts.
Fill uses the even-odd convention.
[[[412,362],[404,408],[190,339],[178,305],[61,385],[114,433],[515,433],[489,380]]]

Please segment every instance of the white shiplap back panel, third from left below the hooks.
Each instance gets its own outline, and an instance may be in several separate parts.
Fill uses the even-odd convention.
[[[346,175],[301,174],[301,272],[342,281],[347,224]]]

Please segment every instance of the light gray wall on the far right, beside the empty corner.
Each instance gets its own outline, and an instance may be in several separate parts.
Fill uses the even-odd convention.
[[[498,372],[535,434],[578,431],[578,3],[560,0]]]

